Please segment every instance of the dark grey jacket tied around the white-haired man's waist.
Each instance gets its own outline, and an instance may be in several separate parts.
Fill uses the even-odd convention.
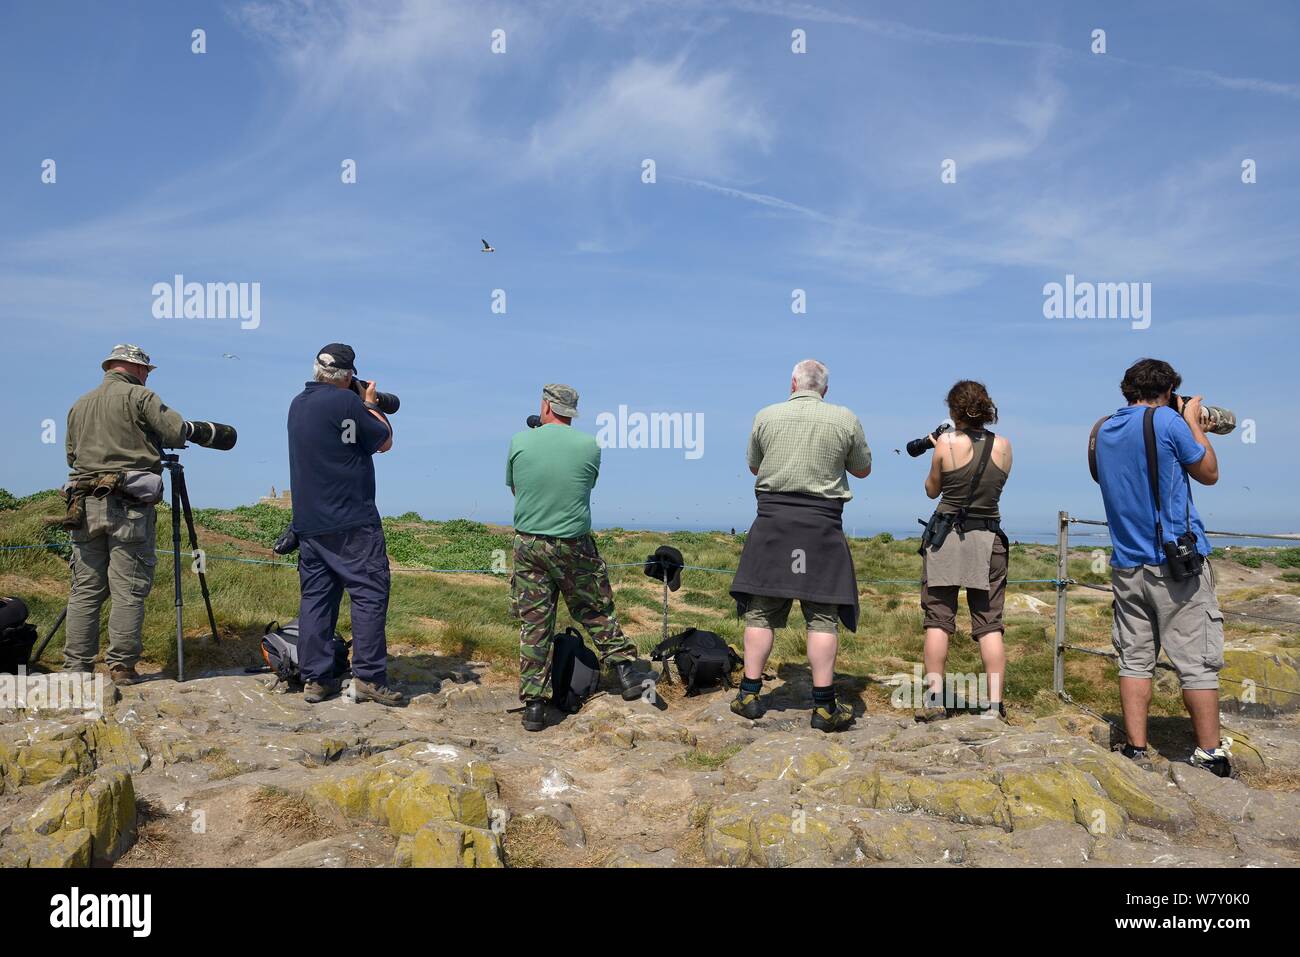
[[[838,499],[759,492],[758,518],[745,538],[731,596],[744,614],[750,596],[837,605],[858,629],[858,579],[844,538]]]

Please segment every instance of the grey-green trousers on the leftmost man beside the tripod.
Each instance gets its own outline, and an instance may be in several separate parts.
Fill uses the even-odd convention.
[[[68,635],[64,670],[91,671],[99,654],[99,622],[104,601],[108,612],[109,667],[133,667],[140,659],[144,599],[153,588],[157,564],[151,505],[130,505],[117,495],[86,499],[86,524],[72,531],[72,594],[68,598]]]

